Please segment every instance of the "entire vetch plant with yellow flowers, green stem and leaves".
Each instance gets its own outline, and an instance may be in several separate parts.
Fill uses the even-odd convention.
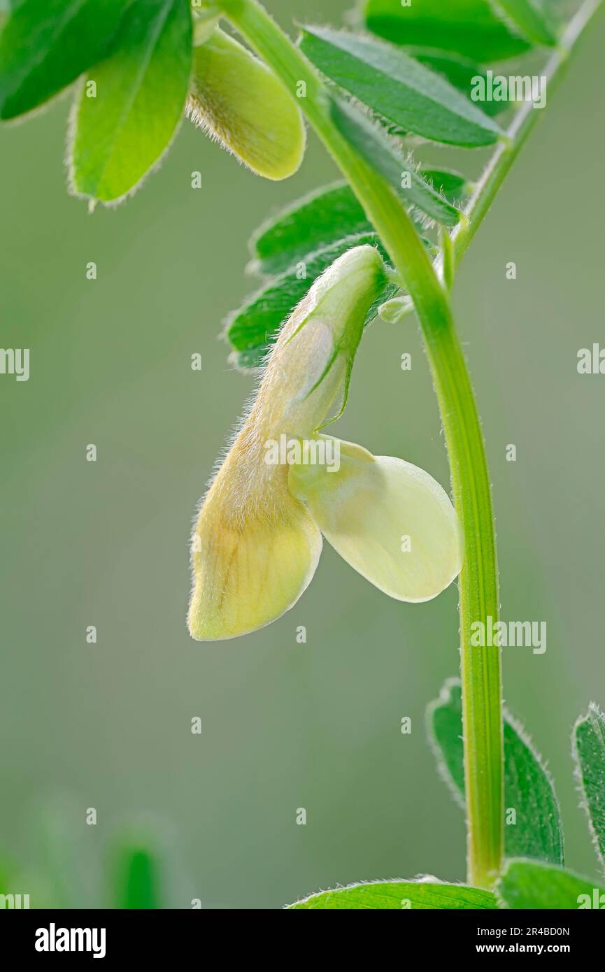
[[[599,5],[363,0],[355,29],[305,25],[293,44],[257,0],[51,0],[43,10],[22,0],[0,34],[0,118],[76,84],[70,186],[91,204],[134,191],[185,113],[269,179],[298,167],[303,113],[342,174],[253,237],[261,286],[226,333],[231,362],[262,376],[199,510],[189,625],[195,638],[216,640],[278,617],[309,582],[322,535],[401,600],[434,597],[459,574],[460,678],[429,707],[428,724],[465,810],[468,884],[355,885],[293,907],[580,908],[605,894],[566,870],[552,780],[503,710],[500,647],[473,642],[478,625],[498,624],[498,571],[483,437],[449,301],[460,260],[544,114],[537,101],[548,89],[550,103]],[[509,100],[476,100],[474,91],[493,88],[494,66],[516,81],[501,86]],[[540,87],[517,84],[525,78]],[[462,171],[423,163],[425,142],[465,150]],[[479,149],[488,158],[471,178],[469,152]],[[353,443],[339,442],[338,470],[267,464],[268,440],[323,440],[346,403],[364,328],[412,312],[441,409],[453,507],[427,473]],[[604,726],[591,705],[574,729],[601,865]]]

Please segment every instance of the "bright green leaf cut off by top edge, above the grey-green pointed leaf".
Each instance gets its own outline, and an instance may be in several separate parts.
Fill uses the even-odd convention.
[[[527,50],[497,16],[488,0],[365,0],[366,23],[374,34],[397,44],[442,48],[482,63],[514,57]]]

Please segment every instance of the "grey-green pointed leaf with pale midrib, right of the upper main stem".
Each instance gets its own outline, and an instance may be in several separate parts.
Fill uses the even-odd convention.
[[[327,78],[403,131],[467,148],[491,145],[502,135],[456,87],[393,45],[304,27],[301,47]]]

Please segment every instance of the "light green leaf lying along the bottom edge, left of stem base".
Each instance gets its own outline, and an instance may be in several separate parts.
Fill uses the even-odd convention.
[[[289,905],[289,910],[303,908],[345,908],[397,911],[411,909],[489,909],[497,908],[495,895],[480,887],[443,885],[436,881],[388,881],[369,885],[338,887],[320,891],[303,901]]]

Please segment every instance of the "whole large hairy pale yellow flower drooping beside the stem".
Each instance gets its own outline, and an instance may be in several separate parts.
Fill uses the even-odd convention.
[[[234,638],[299,600],[322,534],[391,597],[425,601],[461,567],[456,514],[422,469],[318,434],[346,396],[364,322],[384,286],[371,246],[336,260],[280,331],[254,403],[201,504],[189,629]]]

